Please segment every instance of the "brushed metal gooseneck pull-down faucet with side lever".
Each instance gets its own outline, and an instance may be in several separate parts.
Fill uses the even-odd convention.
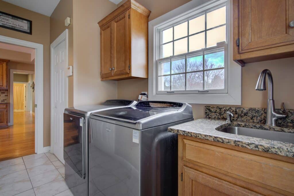
[[[266,75],[268,76],[268,108],[266,111],[265,125],[276,126],[275,121],[279,118],[286,118],[288,116],[288,112],[285,108],[284,103],[283,103],[283,108],[286,113],[277,113],[275,111],[275,101],[273,99],[273,76],[272,76],[272,73],[270,72],[270,70],[265,69],[260,73],[255,90],[257,90],[257,91],[265,91],[266,90],[266,88],[265,88]]]

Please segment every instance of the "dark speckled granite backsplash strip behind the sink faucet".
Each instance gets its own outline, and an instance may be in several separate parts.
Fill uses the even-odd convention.
[[[232,120],[264,123],[266,121],[266,108],[242,108],[242,107],[228,107],[228,106],[205,106],[205,117],[211,119],[226,119],[226,112],[232,112],[234,117]],[[276,109],[277,112],[284,112],[283,109]],[[294,126],[294,110],[287,109],[288,117],[280,118],[276,121],[280,126]]]

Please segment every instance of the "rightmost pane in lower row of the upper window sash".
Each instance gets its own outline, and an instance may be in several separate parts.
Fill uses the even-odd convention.
[[[207,31],[207,47],[216,46],[222,41],[225,41],[225,26]]]

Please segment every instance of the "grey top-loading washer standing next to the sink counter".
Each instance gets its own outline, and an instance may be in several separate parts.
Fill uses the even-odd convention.
[[[178,195],[178,135],[167,128],[191,120],[191,105],[165,101],[92,113],[89,192]]]

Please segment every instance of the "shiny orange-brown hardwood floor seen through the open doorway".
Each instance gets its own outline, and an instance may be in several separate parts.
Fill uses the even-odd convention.
[[[35,115],[14,112],[14,125],[0,129],[0,161],[35,153]]]

